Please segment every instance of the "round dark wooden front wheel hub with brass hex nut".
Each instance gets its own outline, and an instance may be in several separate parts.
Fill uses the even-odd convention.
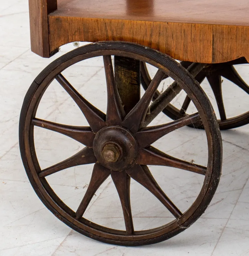
[[[100,164],[114,171],[123,171],[135,163],[138,143],[129,130],[113,125],[96,133],[93,150]]]

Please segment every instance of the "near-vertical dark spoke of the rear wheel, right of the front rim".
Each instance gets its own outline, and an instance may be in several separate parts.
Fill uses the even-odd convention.
[[[221,121],[226,120],[225,107],[222,97],[222,88],[221,88],[221,76],[220,75],[208,75],[207,80],[213,90],[215,100],[218,105],[218,110],[220,113]]]

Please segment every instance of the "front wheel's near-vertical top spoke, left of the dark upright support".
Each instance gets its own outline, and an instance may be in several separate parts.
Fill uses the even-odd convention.
[[[107,84],[106,124],[121,125],[125,113],[121,104],[120,96],[118,94],[118,89],[114,78],[111,56],[105,55],[103,56],[103,60]]]

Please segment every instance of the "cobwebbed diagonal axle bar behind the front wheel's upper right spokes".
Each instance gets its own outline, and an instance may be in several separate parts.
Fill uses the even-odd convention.
[[[192,63],[187,70],[195,77],[206,64]],[[168,104],[181,92],[182,87],[175,81],[151,104],[150,112],[146,114],[143,127],[147,126]]]

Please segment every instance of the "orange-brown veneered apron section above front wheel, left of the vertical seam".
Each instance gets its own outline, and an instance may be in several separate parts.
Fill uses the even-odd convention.
[[[75,41],[126,41],[174,59],[212,63],[212,25],[67,17],[56,12],[48,15],[50,54]]]

